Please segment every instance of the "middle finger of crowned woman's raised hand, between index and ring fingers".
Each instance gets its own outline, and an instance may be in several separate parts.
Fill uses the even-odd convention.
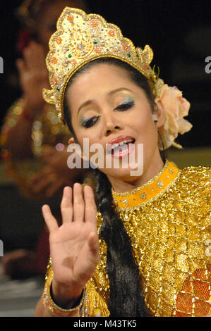
[[[85,203],[82,185],[78,182],[73,185],[73,221],[84,222]]]

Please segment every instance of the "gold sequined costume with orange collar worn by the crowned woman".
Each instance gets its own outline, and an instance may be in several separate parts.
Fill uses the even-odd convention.
[[[179,170],[166,161],[142,187],[112,192],[116,212],[131,237],[152,316],[206,316],[210,311],[210,174],[209,168]],[[97,213],[99,232],[101,223]],[[100,254],[76,316],[109,316],[107,246],[102,238]],[[52,277],[49,263],[43,297]]]

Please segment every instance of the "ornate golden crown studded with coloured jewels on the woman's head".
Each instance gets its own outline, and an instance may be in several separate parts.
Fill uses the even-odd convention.
[[[140,71],[150,82],[157,74],[150,67],[153,51],[133,45],[123,37],[121,30],[107,23],[102,16],[86,14],[78,8],[64,8],[57,21],[57,30],[49,41],[46,63],[52,89],[44,89],[44,100],[56,106],[59,118],[64,120],[64,94],[74,73],[96,58],[111,57],[124,61]]]

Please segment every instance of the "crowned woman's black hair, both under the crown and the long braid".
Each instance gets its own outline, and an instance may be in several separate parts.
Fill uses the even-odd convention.
[[[155,101],[147,78],[131,65],[115,58],[99,58],[84,65],[71,78],[68,87],[76,76],[99,63],[110,63],[126,70],[131,80],[145,92],[152,111],[155,109]],[[64,118],[77,142],[66,97],[64,98]],[[123,317],[147,316],[147,308],[140,286],[140,272],[133,257],[131,239],[114,208],[111,183],[102,171],[99,169],[93,171],[96,179],[97,208],[103,218],[100,235],[107,244],[107,274],[109,275],[110,288],[108,308],[110,315]]]

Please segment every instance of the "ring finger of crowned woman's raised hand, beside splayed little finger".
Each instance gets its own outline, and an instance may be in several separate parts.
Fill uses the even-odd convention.
[[[71,187],[64,187],[63,196],[61,200],[61,216],[62,222],[73,221],[73,193]]]

